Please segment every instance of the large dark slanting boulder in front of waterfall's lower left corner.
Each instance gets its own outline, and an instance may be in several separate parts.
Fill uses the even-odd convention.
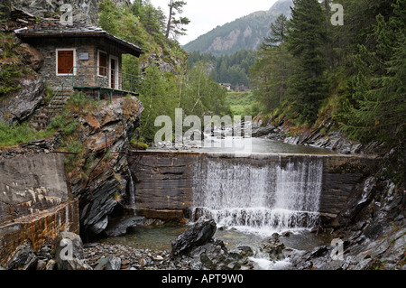
[[[214,220],[198,220],[191,228],[172,242],[172,258],[189,254],[190,250],[208,243],[216,233]]]

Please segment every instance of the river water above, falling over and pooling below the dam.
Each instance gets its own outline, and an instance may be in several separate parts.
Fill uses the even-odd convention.
[[[190,148],[189,151],[247,153],[244,147],[236,150],[226,147],[226,139],[211,137],[210,140],[212,144],[217,142],[217,146]],[[290,231],[290,236],[281,237],[281,242],[293,249],[309,250],[328,245],[331,240],[328,236],[316,235],[310,230],[318,222],[321,189],[322,166],[315,155],[334,152],[263,138],[252,138],[249,144],[249,153],[308,154],[309,160],[289,163],[285,167],[278,163],[272,164],[272,167],[211,160],[197,163],[197,174],[205,176],[194,181],[194,195],[197,195],[194,197],[195,209],[199,209],[200,217],[217,221],[215,237],[223,240],[229,249],[252,246],[257,252],[265,237],[285,231]],[[134,248],[171,250],[171,242],[187,228],[189,225],[140,227],[126,236],[107,241]],[[260,252],[252,260],[259,269],[284,269],[289,266],[286,261],[271,262]]]

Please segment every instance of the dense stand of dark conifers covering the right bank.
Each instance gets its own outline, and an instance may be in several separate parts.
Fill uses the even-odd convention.
[[[333,107],[355,139],[401,141],[405,123],[405,1],[344,0],[344,25],[330,1],[295,0],[292,19],[272,24],[252,68],[263,112],[312,124]],[[389,112],[391,111],[391,112]]]

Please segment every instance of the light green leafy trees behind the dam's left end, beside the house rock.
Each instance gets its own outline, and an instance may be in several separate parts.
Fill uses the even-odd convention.
[[[170,116],[175,124],[176,108],[182,108],[185,115],[203,116],[208,111],[219,116],[231,114],[225,89],[207,71],[207,65],[201,62],[183,76],[161,74],[156,66],[145,70],[139,96],[144,107],[139,133],[145,141],[152,142],[161,129],[154,125],[157,116]]]

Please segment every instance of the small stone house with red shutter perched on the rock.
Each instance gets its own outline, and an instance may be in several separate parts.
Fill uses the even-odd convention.
[[[137,94],[137,79],[122,71],[122,55],[141,48],[97,26],[58,20],[32,23],[14,33],[44,55],[39,73],[54,90],[93,89]]]

